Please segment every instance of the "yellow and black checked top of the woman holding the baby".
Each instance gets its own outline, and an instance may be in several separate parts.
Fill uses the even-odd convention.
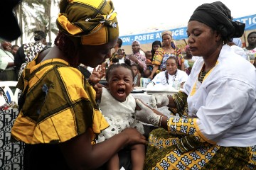
[[[23,79],[29,77],[30,79]],[[31,62],[23,72],[26,101],[11,135],[28,144],[58,143],[91,129],[92,141],[109,125],[95,103],[95,91],[85,77],[68,63]],[[19,84],[21,84],[19,82]],[[24,91],[23,91],[24,92]]]

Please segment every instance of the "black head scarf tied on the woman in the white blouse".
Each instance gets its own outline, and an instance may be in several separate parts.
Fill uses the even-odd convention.
[[[240,38],[245,30],[245,23],[232,21],[230,9],[220,1],[198,6],[190,21],[199,21],[218,30],[224,39]]]

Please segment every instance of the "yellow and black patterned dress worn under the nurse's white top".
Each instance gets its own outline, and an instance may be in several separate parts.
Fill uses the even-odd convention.
[[[210,144],[198,129],[196,118],[187,118],[184,99],[186,94],[174,95],[180,118],[167,120],[168,131],[158,128],[150,133],[144,169],[256,169],[256,146]]]

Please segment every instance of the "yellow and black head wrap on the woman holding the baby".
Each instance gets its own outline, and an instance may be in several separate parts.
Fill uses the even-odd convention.
[[[116,16],[110,0],[61,0],[56,23],[82,45],[102,45],[119,36]]]

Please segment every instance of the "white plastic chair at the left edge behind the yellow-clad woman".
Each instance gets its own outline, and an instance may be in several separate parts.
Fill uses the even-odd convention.
[[[18,83],[18,81],[0,81],[0,87],[2,87],[4,89],[5,94],[8,91],[11,101],[14,101],[16,103],[18,103],[19,89],[16,88],[15,92],[13,93],[11,91],[10,87],[15,87],[17,85],[17,83]],[[4,96],[0,96],[0,106],[4,105],[4,103],[6,103],[6,101],[4,100]]]

